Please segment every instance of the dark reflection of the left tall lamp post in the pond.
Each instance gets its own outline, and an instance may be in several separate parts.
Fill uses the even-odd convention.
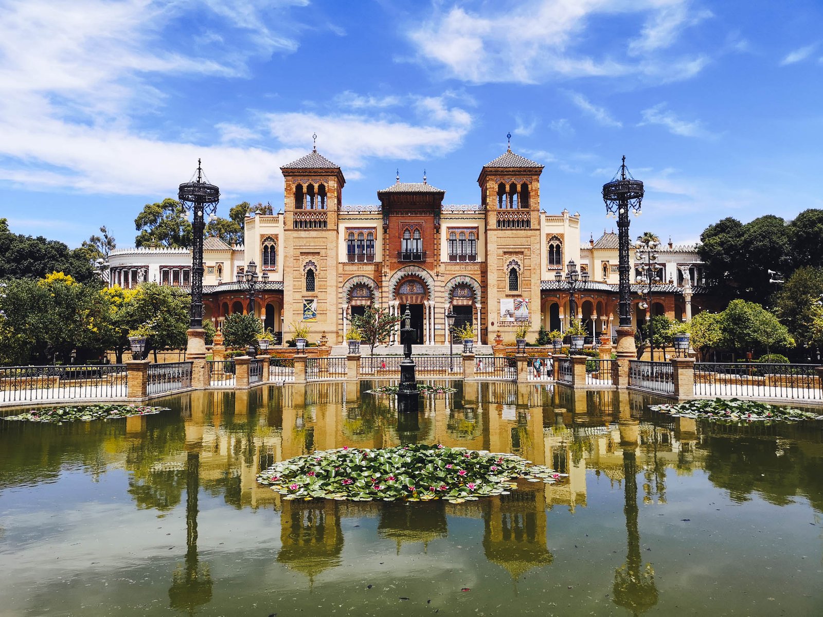
[[[198,560],[198,493],[200,491],[200,454],[188,452],[186,458],[186,565],[177,568],[169,587],[170,606],[194,610],[212,600],[212,577],[207,564]]]

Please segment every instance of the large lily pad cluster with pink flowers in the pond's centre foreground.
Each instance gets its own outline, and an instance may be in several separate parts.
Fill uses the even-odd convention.
[[[276,463],[258,482],[283,499],[463,503],[509,494],[517,478],[554,484],[565,476],[514,454],[417,443],[313,452]]]

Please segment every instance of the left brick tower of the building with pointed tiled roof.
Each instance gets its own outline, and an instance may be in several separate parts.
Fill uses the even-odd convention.
[[[316,138],[316,136],[315,136]],[[283,337],[305,322],[309,340],[337,341],[337,216],[346,183],[340,166],[317,151],[281,168],[284,179]]]

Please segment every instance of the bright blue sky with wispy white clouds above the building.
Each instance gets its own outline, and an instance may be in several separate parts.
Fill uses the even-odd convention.
[[[222,216],[277,209],[313,132],[346,203],[397,168],[477,203],[510,131],[585,238],[611,229],[599,193],[625,154],[633,229],[694,241],[823,207],[821,23],[819,0],[0,0],[0,216],[131,246],[198,157]]]

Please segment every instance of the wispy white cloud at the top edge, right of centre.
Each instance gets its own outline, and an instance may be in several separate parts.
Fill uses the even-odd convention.
[[[528,0],[516,7],[506,3],[495,12],[487,2],[464,2],[441,8],[415,23],[408,36],[416,57],[442,67],[449,77],[472,83],[537,83],[551,78],[621,77],[635,75],[653,81],[688,78],[691,71],[668,72],[673,64],[695,63],[700,56],[658,58],[683,28],[702,21],[710,13],[693,11],[689,0]],[[593,37],[593,21],[607,21],[620,14],[646,16],[639,38],[626,58],[603,55],[595,58],[580,50]],[[639,60],[635,57],[641,57]]]

